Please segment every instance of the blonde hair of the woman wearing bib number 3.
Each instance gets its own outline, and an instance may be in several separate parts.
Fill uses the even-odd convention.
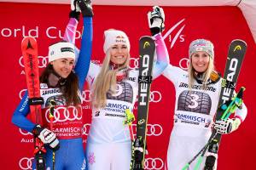
[[[196,71],[192,65],[192,55],[189,58],[189,89],[191,89],[195,82]],[[209,65],[207,71],[205,71],[202,75],[202,89],[207,89],[207,81],[211,77],[212,71],[215,71],[215,66],[212,57],[209,56]]]

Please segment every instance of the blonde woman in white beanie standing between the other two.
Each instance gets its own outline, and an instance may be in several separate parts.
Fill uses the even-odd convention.
[[[162,22],[160,20],[158,26]],[[157,60],[153,78],[160,76],[168,64],[166,57],[160,55],[164,41],[159,32],[160,29],[154,31]],[[103,50],[106,55],[103,64],[90,63],[87,76],[92,93],[92,122],[86,158],[89,170],[128,170],[131,139],[129,127],[123,121],[125,110],[132,109],[137,99],[138,70],[129,69],[131,47],[125,32],[112,29],[105,31],[104,36]]]

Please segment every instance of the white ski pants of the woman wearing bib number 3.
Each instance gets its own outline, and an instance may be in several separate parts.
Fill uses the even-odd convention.
[[[201,131],[200,129],[189,128],[188,130],[184,128],[183,130],[183,132],[180,129],[172,131],[167,150],[166,161],[168,170],[181,170],[207,144],[207,140],[211,135],[211,133],[207,133],[204,130]],[[206,156],[207,153],[202,159],[200,170],[205,166]],[[190,164],[188,170],[195,168],[198,158],[199,156]]]

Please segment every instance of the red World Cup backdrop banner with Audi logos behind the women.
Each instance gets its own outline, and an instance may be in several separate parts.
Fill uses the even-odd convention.
[[[40,3],[0,3],[0,47],[1,47],[1,169],[31,170],[33,161],[33,137],[31,133],[11,123],[13,113],[26,92],[24,60],[20,50],[23,37],[35,37],[38,41],[39,68],[43,71],[48,64],[49,45],[61,41],[68,21],[70,6]],[[237,87],[245,86],[244,103],[247,118],[234,133],[224,135],[218,152],[218,170],[241,170],[255,167],[256,147],[253,120],[253,97],[255,78],[253,65],[255,43],[241,10],[237,7],[163,7],[166,14],[166,29],[162,35],[172,65],[187,71],[189,66],[189,43],[205,38],[214,44],[216,70],[224,72],[228,47],[232,40],[247,42],[247,54],[241,67]],[[131,42],[130,68],[137,69],[139,38],[150,36],[147,13],[152,7],[94,6],[92,61],[101,64],[104,59],[103,32],[110,28],[125,31]],[[20,12],[22,11],[22,12]],[[82,18],[82,17],[81,17]],[[80,48],[83,20],[80,19],[76,32],[76,46]],[[238,89],[238,88],[237,88]],[[55,120],[83,119],[81,134],[84,147],[90,131],[91,94],[84,85],[82,94],[83,117],[75,110],[55,115]],[[147,125],[148,155],[145,169],[163,170],[166,164],[170,134],[173,127],[175,89],[165,77],[152,83],[149,96]],[[61,108],[60,108],[61,110]],[[134,106],[137,116],[137,104]],[[136,134],[136,122],[132,125]],[[188,148],[189,150],[189,148]],[[56,160],[58,158],[56,157]],[[128,168],[128,167],[127,167]],[[127,169],[126,168],[126,169]],[[124,167],[125,169],[125,167]]]

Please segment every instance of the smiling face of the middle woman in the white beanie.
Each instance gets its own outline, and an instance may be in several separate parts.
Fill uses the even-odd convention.
[[[115,65],[125,64],[128,54],[128,48],[124,44],[116,44],[110,48],[110,60]]]

